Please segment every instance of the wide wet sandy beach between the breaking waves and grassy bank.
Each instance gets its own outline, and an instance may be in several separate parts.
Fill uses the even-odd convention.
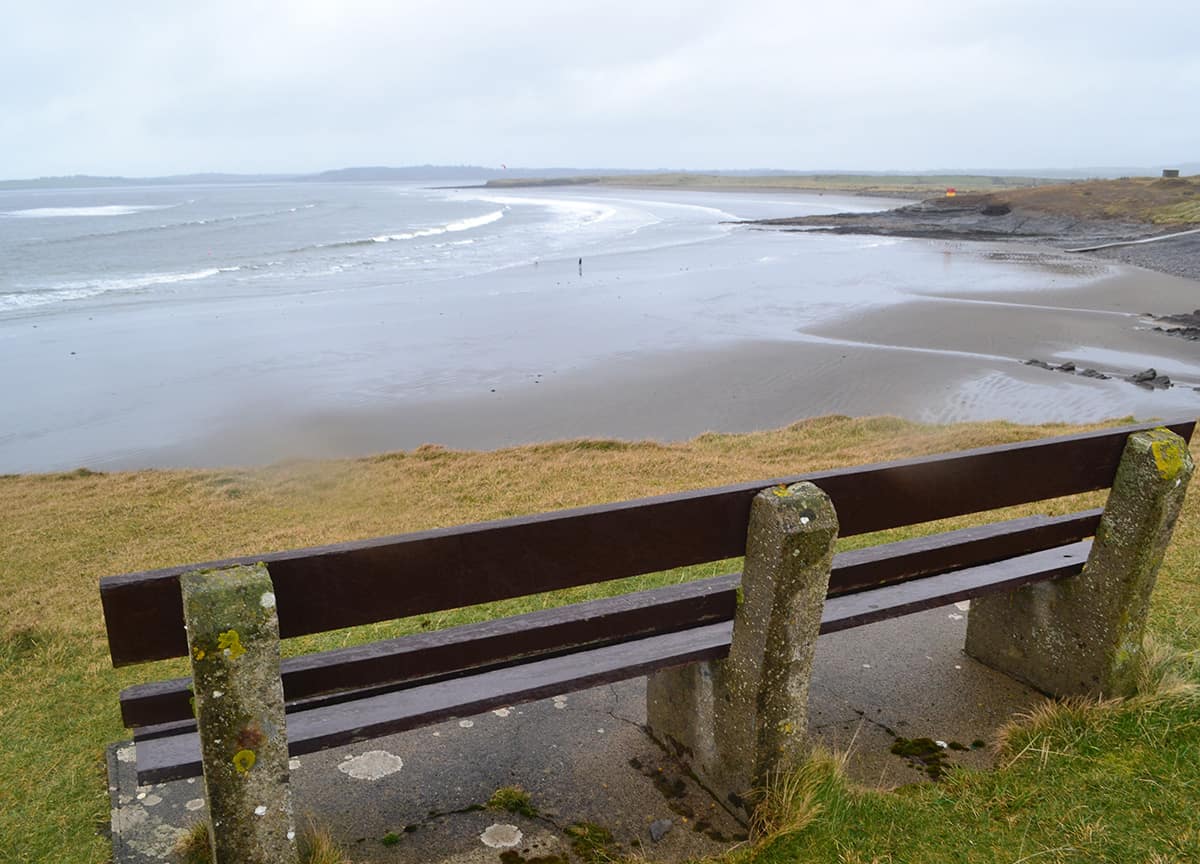
[[[588,196],[619,208],[664,193]],[[665,198],[706,226],[730,210],[832,205]],[[594,250],[582,268],[559,256],[408,292],[355,284],[281,300],[230,289],[10,319],[0,360],[38,376],[0,385],[19,406],[0,432],[0,472],[668,442],[823,414],[1200,413],[1196,343],[1142,314],[1193,308],[1193,280],[1016,242],[746,226],[653,246],[642,236]],[[1025,365],[1034,358],[1110,378]],[[1123,380],[1150,367],[1174,386]]]

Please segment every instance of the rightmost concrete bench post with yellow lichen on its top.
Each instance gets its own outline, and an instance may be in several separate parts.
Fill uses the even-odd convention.
[[[1084,572],[972,600],[967,654],[1052,696],[1130,695],[1193,470],[1174,432],[1129,436]]]

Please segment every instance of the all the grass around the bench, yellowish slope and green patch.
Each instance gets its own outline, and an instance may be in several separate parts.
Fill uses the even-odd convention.
[[[257,470],[0,478],[0,860],[108,859],[96,829],[108,818],[102,749],[124,734],[116,694],[126,684],[182,672],[179,662],[109,667],[96,592],[103,575],[1069,431],[1074,427],[834,418],[674,445],[575,442],[493,454],[421,448]],[[1070,505],[1042,509],[1061,512]],[[1152,611],[1156,631],[1181,648],[1200,646],[1196,511],[1189,502]],[[642,577],[605,590],[720,570]],[[582,592],[564,594],[502,606],[539,607]],[[488,613],[443,613],[308,643],[346,644]],[[1112,850],[1169,848],[1164,832],[1192,830],[1189,848],[1195,848],[1195,823],[1187,828],[1183,821],[1200,802],[1198,718],[1194,706],[1174,702],[1157,713],[1132,710],[1094,730],[1068,728],[1045,749],[1034,744],[1008,770],[955,776],[904,794],[863,793],[829,781],[822,787],[826,810],[805,832],[754,856],[1013,862],[1052,848],[1064,832],[1074,832],[1063,841],[1072,848],[1086,846],[1084,834],[1098,838],[1086,846],[1094,857],[1080,860],[1120,860]],[[1093,823],[1098,827],[1088,827]],[[847,832],[851,826],[860,829]],[[960,854],[968,841],[979,846],[973,858]],[[1129,858],[1141,859],[1147,858]]]

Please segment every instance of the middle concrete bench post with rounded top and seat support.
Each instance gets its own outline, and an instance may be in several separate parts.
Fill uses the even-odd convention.
[[[809,482],[755,496],[730,656],[650,676],[652,733],[742,817],[806,757],[809,677],[838,515]]]

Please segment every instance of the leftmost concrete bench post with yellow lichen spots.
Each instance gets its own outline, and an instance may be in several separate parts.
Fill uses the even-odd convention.
[[[280,622],[266,568],[185,574],[214,864],[294,864]]]

